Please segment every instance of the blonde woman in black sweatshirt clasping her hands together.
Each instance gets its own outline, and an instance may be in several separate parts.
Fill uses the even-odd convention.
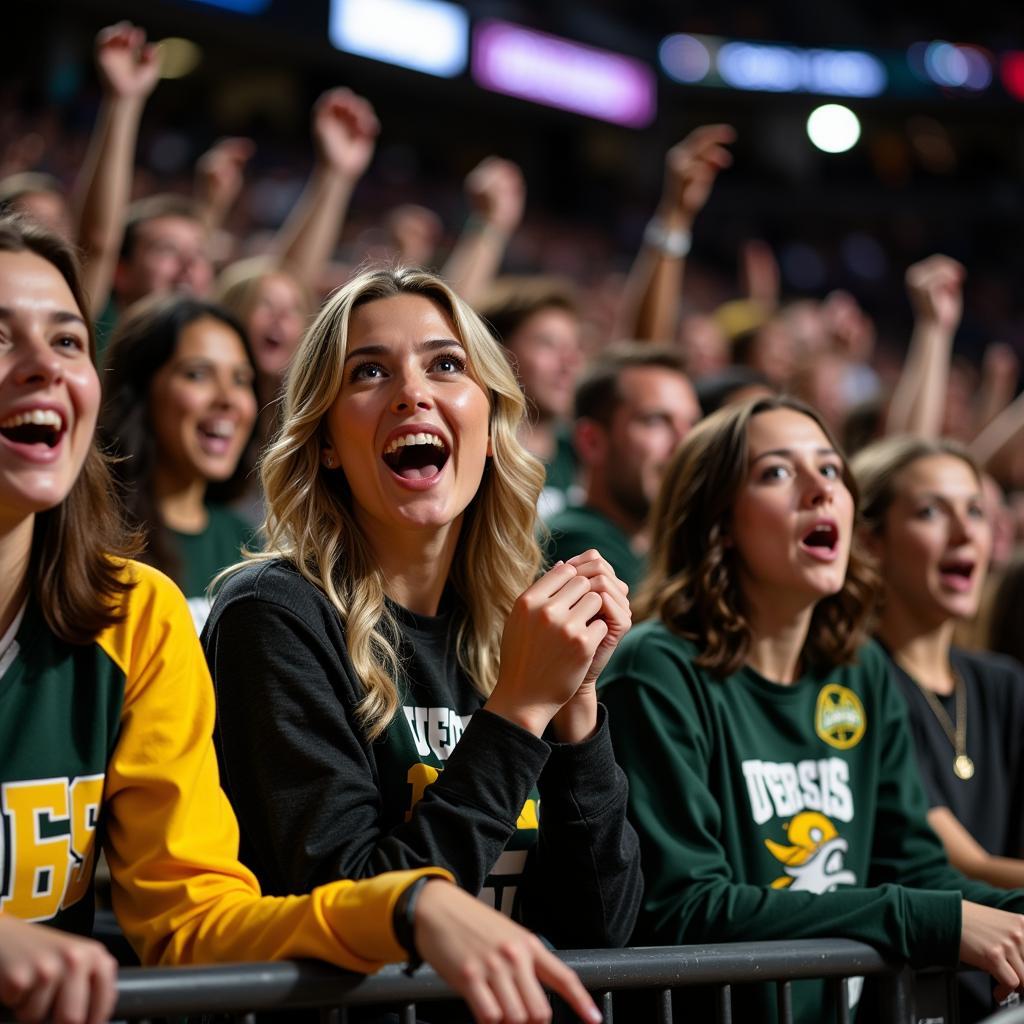
[[[593,551],[539,575],[523,408],[482,322],[423,272],[358,275],[303,339],[266,551],[204,633],[268,891],[437,863],[556,945],[629,938],[636,837],[595,690],[626,587]]]

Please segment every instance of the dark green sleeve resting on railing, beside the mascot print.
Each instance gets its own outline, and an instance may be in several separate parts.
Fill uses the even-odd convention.
[[[959,894],[883,885],[831,893],[738,882],[721,839],[715,756],[692,667],[663,646],[634,643],[602,689],[630,786],[647,888],[641,939],[656,943],[843,936],[913,966],[954,965]],[[690,674],[690,678],[687,678]]]

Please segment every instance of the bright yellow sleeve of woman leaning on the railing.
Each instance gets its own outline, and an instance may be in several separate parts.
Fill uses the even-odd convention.
[[[238,861],[220,790],[213,690],[184,599],[138,566],[128,617],[100,638],[126,675],[103,813],[114,908],[144,964],[311,956],[371,972],[401,961],[391,915],[402,890],[437,868],[339,881],[262,897]]]

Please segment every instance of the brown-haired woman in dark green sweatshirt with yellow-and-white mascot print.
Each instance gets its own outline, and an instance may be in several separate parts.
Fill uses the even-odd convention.
[[[964,959],[1009,991],[1024,929],[995,907],[1024,910],[1024,893],[964,878],[928,826],[905,710],[863,642],[855,509],[828,430],[794,399],[722,410],[673,459],[649,621],[601,687],[647,880],[635,941],[838,936],[916,966]],[[825,1001],[801,985],[796,1019]]]

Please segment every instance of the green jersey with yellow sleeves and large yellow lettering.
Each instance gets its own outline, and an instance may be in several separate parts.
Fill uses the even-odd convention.
[[[0,912],[85,933],[101,843],[114,909],[147,965],[404,958],[392,910],[418,874],[263,899],[213,750],[213,687],[177,588],[126,562],[121,620],[60,640],[30,598],[0,656]]]

